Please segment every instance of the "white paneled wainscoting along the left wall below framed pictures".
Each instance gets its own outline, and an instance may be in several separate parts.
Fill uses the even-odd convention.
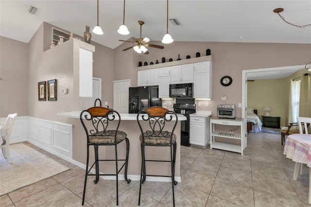
[[[6,118],[1,118],[1,125]],[[17,117],[13,125],[10,143],[28,141],[65,160],[72,160],[72,124]]]

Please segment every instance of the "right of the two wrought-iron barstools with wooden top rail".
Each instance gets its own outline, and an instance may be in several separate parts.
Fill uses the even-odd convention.
[[[141,171],[140,171],[140,186],[139,186],[139,198],[138,206],[140,206],[141,185],[145,182],[146,176],[161,176],[172,178],[172,190],[173,190],[173,206],[175,206],[174,198],[174,185],[177,182],[174,179],[175,174],[175,160],[176,160],[176,135],[174,134],[175,127],[177,125],[177,115],[173,111],[169,111],[166,108],[159,106],[153,106],[146,110],[141,110],[137,115],[138,125],[141,131],[139,136],[141,147]],[[165,126],[166,122],[172,121],[173,128],[169,131]],[[146,122],[146,123],[144,123]],[[154,147],[169,147],[170,159],[169,160],[155,160],[146,159],[145,146]],[[146,173],[146,162],[170,162],[171,163],[171,175],[154,175]]]

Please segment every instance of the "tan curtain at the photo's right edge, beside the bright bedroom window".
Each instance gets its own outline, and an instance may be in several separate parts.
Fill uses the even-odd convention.
[[[299,116],[311,117],[311,74],[305,73],[301,77]]]

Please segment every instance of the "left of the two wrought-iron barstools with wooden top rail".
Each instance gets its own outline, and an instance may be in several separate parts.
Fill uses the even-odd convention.
[[[86,195],[86,180],[88,175],[94,175],[94,183],[97,184],[100,175],[115,175],[116,185],[117,185],[117,206],[119,205],[118,196],[118,174],[124,168],[124,178],[127,183],[131,180],[127,178],[127,165],[128,165],[128,154],[130,149],[130,143],[125,132],[118,131],[120,126],[120,114],[117,111],[95,106],[87,110],[84,110],[80,114],[81,123],[86,131],[87,138],[87,156],[86,156],[86,176],[84,181],[83,199],[82,206],[84,205],[85,195]],[[117,126],[112,129],[111,121],[118,121]],[[110,122],[110,125],[108,124]],[[108,127],[109,125],[109,127]],[[125,159],[118,159],[117,145],[125,139],[126,141],[126,157]],[[94,146],[95,151],[95,161],[92,166],[88,169],[89,160],[89,146]],[[115,159],[99,159],[98,157],[98,146],[114,146],[115,147]],[[99,173],[99,161],[115,161],[116,162],[116,173],[115,174],[100,174]],[[118,161],[124,161],[121,168],[118,168]],[[95,165],[95,174],[90,174]]]

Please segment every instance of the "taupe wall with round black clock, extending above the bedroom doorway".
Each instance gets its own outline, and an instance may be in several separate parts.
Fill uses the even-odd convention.
[[[198,110],[211,110],[213,114],[217,113],[217,104],[235,104],[242,102],[242,70],[262,69],[282,66],[304,65],[310,59],[311,45],[310,44],[274,44],[274,43],[228,43],[228,42],[173,42],[169,45],[164,45],[161,42],[152,41],[152,44],[163,45],[164,49],[149,48],[149,54],[138,54],[133,52],[133,61],[136,71],[139,69],[138,62],[154,62],[165,57],[166,61],[169,58],[176,60],[178,54],[181,59],[186,59],[187,55],[191,58],[195,57],[196,52],[200,52],[201,56],[206,54],[206,50],[211,50],[213,72],[212,72],[212,100],[199,101],[201,107]],[[124,44],[118,47],[118,50],[129,47]],[[294,53],[293,53],[294,51]],[[115,60],[122,59],[124,53],[129,51],[116,53]],[[121,53],[121,54],[120,54]],[[132,55],[132,53],[131,53]],[[161,67],[161,64],[159,64]],[[130,69],[127,63],[120,63],[118,70],[114,72],[114,80],[123,79],[124,72],[128,70],[135,71],[135,68]],[[132,74],[131,77],[135,76]],[[220,79],[224,75],[229,75],[233,79],[231,86],[222,86]],[[135,83],[137,84],[137,83]],[[132,84],[133,85],[133,84]],[[228,99],[223,102],[220,97],[225,94]],[[205,103],[208,102],[208,107]],[[241,108],[237,108],[236,117],[242,116]]]

